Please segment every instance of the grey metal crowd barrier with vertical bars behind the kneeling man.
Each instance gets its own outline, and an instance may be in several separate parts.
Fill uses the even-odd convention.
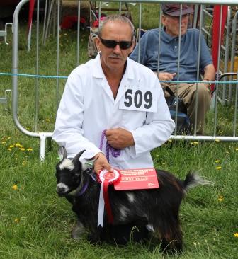
[[[26,22],[19,16],[21,9],[28,4],[28,0],[22,0],[18,4],[13,16],[11,74],[13,121],[23,134],[40,139],[40,159],[45,158],[45,140],[52,136],[55,115],[67,75],[74,67],[89,59],[88,42],[92,23],[98,16],[100,18],[109,13],[123,13],[132,18],[139,32],[142,29],[162,28],[160,9],[164,2],[166,1],[133,3],[72,1],[72,6],[65,8],[59,0],[49,3],[45,1],[45,6],[40,8],[40,1],[36,1],[37,12],[33,19],[30,45],[24,38],[27,30]],[[179,3],[179,1],[169,2]],[[184,4],[185,1],[181,2]],[[196,27],[201,34],[203,33],[210,47],[212,47],[210,24],[212,24],[213,6],[215,4],[230,6],[224,35],[218,42],[219,73],[215,81],[216,91],[213,93],[212,109],[207,116],[205,135],[178,135],[175,132],[171,139],[237,141],[237,79],[234,79],[237,76],[233,78],[229,76],[219,81],[219,75],[227,71],[232,71],[233,74],[237,72],[237,68],[234,68],[237,60],[235,34],[237,13],[231,6],[238,5],[238,1],[186,1],[186,3],[193,5],[195,9],[191,27]],[[72,8],[71,13],[69,7]],[[221,19],[219,23],[213,23],[213,27],[221,34],[220,24]],[[140,37],[137,39],[140,45]],[[229,106],[224,106],[225,103],[229,103]]]

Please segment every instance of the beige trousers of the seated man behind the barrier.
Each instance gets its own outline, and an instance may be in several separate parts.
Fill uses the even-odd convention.
[[[188,117],[191,121],[192,129],[196,125],[196,133],[203,135],[204,124],[205,124],[205,114],[210,108],[211,94],[208,88],[208,84],[199,83],[198,84],[198,113],[196,120],[196,83],[195,84],[178,84],[178,96],[183,98],[188,111]],[[169,86],[171,91],[176,95],[177,84],[165,84],[162,83],[162,87]],[[165,92],[165,96],[167,96]],[[169,96],[169,94],[168,94]]]

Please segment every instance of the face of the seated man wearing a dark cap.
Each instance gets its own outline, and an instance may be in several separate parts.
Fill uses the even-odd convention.
[[[165,26],[166,33],[171,36],[179,36],[180,16],[162,16],[162,23]],[[182,16],[181,35],[184,35],[188,29],[188,14]]]

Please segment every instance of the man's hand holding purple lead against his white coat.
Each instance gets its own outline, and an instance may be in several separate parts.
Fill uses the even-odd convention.
[[[125,147],[135,145],[132,133],[126,129],[120,127],[108,129],[105,134],[108,144],[113,146],[114,149],[125,149]]]

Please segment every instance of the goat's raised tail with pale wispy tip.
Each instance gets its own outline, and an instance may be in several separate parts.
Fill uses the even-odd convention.
[[[206,185],[211,186],[214,185],[214,181],[206,180],[205,177],[198,175],[196,172],[191,172],[186,175],[186,178],[183,182],[183,188],[185,191],[196,187],[197,185]]]

